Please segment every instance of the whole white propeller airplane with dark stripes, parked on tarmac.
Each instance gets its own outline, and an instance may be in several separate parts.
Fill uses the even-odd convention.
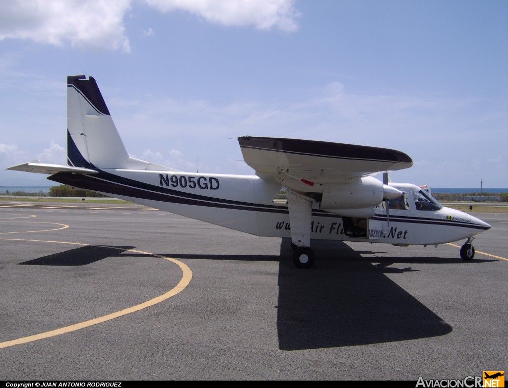
[[[8,168],[50,174],[49,180],[166,210],[257,236],[291,237],[293,261],[310,268],[311,239],[435,245],[491,226],[443,207],[428,191],[389,183],[408,168],[406,154],[386,148],[276,137],[238,137],[256,175],[183,172],[129,156],[96,81],[67,80],[68,166],[30,162]],[[373,175],[383,173],[383,182]],[[274,197],[282,188],[286,201]]]

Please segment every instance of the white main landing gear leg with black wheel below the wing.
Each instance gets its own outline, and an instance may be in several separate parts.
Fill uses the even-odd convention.
[[[314,264],[314,252],[310,249],[310,221],[312,202],[287,191],[293,262],[298,268],[310,268]]]

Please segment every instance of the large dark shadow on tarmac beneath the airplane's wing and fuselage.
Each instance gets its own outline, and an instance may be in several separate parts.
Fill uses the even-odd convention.
[[[438,257],[362,257],[342,241],[312,242],[313,268],[295,268],[289,239],[280,256],[187,255],[173,258],[279,261],[277,331],[281,350],[315,349],[442,336],[452,327],[399,287],[385,273],[416,271],[390,268],[394,263],[464,264]],[[480,263],[490,260],[473,260]],[[373,264],[376,263],[376,264]],[[467,263],[467,264],[470,264]]]

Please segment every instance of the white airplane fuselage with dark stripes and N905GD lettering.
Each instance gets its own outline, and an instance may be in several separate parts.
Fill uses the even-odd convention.
[[[67,177],[68,174],[62,176]],[[256,175],[126,169],[102,169],[99,175],[74,177],[84,181],[62,179],[61,183],[253,235],[291,237],[288,206],[273,201],[280,189],[275,180],[263,180]],[[404,187],[400,186],[400,189]],[[418,210],[412,197],[408,198],[408,208],[389,210],[389,221],[383,204],[374,206],[374,216],[367,219],[328,213],[320,210],[319,203],[314,202],[308,226],[310,237],[426,245],[469,238],[490,227],[471,215],[447,207]]]

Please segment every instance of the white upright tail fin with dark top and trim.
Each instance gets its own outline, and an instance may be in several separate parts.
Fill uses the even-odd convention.
[[[129,154],[93,77],[67,78],[67,163],[74,167],[126,168]]]

